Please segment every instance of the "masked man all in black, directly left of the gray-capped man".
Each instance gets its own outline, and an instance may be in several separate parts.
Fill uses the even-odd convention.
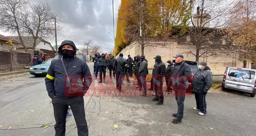
[[[160,55],[157,55],[154,59],[156,64],[153,68],[152,78],[156,97],[152,100],[157,101],[157,105],[163,105],[163,77],[166,74],[166,65],[162,61],[162,57]]]

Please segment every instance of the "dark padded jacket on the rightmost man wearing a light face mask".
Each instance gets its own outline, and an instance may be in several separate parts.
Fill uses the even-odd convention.
[[[209,67],[204,68],[194,74],[192,91],[207,94],[212,86],[212,72]]]

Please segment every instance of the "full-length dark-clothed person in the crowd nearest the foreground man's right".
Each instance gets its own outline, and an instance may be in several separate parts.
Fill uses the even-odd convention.
[[[102,82],[102,73],[103,73],[103,83],[106,83],[106,71],[107,66],[109,64],[108,59],[106,59],[106,55],[102,54],[102,57],[99,59],[99,83]]]

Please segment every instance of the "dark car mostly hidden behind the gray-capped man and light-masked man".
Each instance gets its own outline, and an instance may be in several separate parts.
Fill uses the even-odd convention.
[[[173,60],[172,62],[175,63],[175,60]],[[185,63],[187,63],[189,65],[189,67],[191,68],[191,74],[192,74],[191,79],[189,80],[189,88],[186,89],[186,92],[192,93],[193,76],[197,71],[199,71],[198,62],[185,60]]]

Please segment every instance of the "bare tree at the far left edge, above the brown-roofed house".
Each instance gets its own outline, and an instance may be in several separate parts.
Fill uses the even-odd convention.
[[[23,14],[27,10],[28,0],[0,0],[0,28],[5,32],[18,34],[21,45],[28,52],[22,35],[25,28],[22,25]]]

